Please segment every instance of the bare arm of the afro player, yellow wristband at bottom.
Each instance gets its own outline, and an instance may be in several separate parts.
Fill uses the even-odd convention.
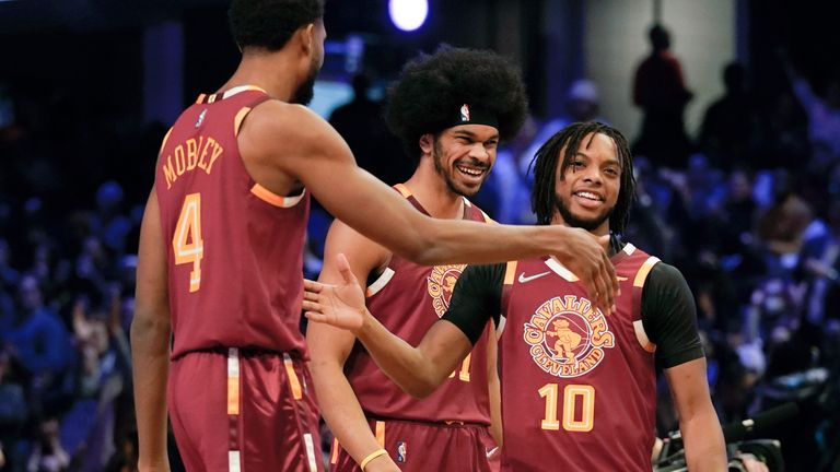
[[[382,246],[337,220],[327,234],[326,263],[320,272],[320,282],[340,284],[343,281],[334,262],[339,250],[346,252],[350,269],[359,280],[366,280],[371,272],[387,262],[390,255]],[[306,345],[312,359],[310,366],[320,412],[341,447],[357,463],[361,463],[368,455],[382,446],[371,432],[343,371],[354,342],[353,333],[329,324],[314,322],[306,330]],[[365,472],[398,470],[387,455],[372,460],[365,468]]]

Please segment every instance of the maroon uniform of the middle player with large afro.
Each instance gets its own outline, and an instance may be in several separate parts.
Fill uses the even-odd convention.
[[[428,214],[402,185],[395,187],[418,211]],[[464,219],[488,221],[464,199]],[[387,329],[416,345],[446,311],[463,264],[418,266],[396,255],[368,287],[368,309]],[[345,374],[370,420],[372,432],[404,472],[487,471],[490,400],[487,343],[494,341],[487,323],[472,352],[458,369],[429,397],[405,393],[355,343]],[[492,340],[492,341],[491,341]],[[359,471],[359,465],[337,441],[330,455],[331,471]]]

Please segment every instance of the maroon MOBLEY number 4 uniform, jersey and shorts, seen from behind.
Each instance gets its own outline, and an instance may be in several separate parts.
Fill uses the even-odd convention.
[[[167,399],[190,471],[319,471],[300,331],[305,190],[270,192],[237,146],[254,86],[201,95],[164,138],[155,191],[173,326]]]

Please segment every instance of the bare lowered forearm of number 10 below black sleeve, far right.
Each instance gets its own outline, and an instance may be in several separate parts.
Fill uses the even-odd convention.
[[[727,470],[726,446],[705,380],[705,358],[665,369],[679,415],[688,469],[695,472]]]

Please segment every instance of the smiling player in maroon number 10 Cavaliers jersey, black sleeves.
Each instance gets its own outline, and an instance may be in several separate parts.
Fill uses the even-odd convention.
[[[649,472],[654,362],[670,385],[689,470],[726,470],[691,293],[675,268],[616,237],[633,186],[627,141],[602,123],[571,125],[536,156],[538,222],[611,234],[607,249],[621,292],[609,316],[592,304],[574,270],[553,257],[468,267],[443,320],[417,347],[363,311],[361,288],[343,258],[342,284],[324,288],[307,281],[304,308],[312,320],[352,329],[410,392],[443,381],[493,319],[502,330],[502,470]]]

